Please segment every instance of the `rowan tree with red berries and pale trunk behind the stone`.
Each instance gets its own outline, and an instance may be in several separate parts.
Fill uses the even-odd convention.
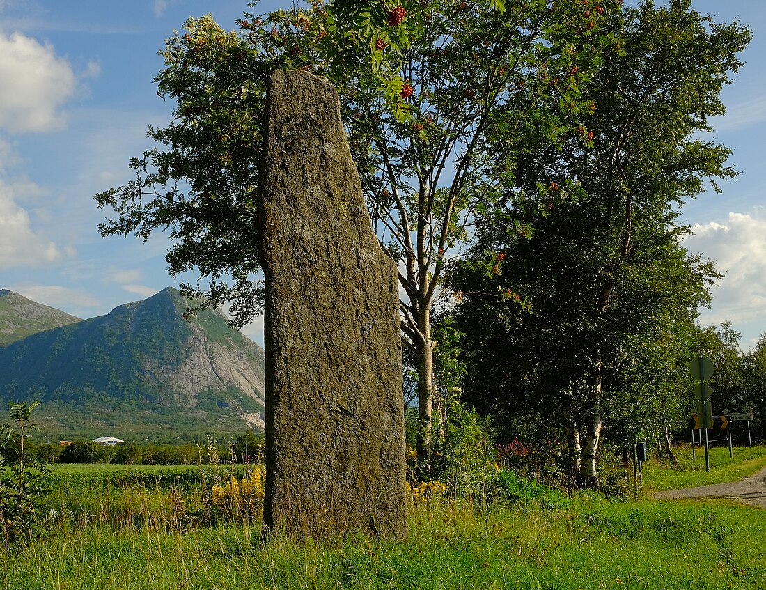
[[[254,193],[265,80],[278,67],[329,77],[375,231],[398,263],[425,452],[437,391],[430,315],[445,264],[519,152],[581,125],[580,88],[615,51],[601,24],[620,3],[315,0],[306,10],[251,10],[231,32],[210,16],[189,19],[156,77],[159,95],[177,103],[169,126],[149,130],[166,147],[131,162],[134,182],[97,195],[117,213],[101,231],[169,230],[171,274],[196,268],[201,277],[185,294],[231,303],[233,323],[246,323],[263,293]]]

